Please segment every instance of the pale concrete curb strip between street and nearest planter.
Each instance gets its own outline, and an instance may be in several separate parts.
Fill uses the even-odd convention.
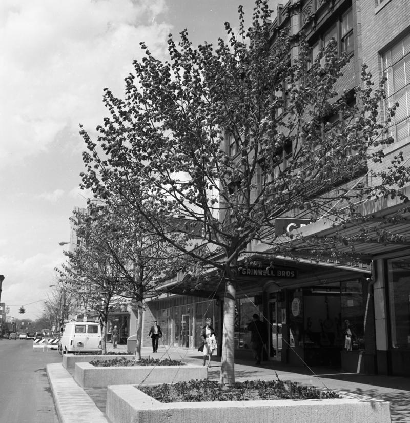
[[[47,364],[46,369],[60,423],[109,423],[63,364]]]

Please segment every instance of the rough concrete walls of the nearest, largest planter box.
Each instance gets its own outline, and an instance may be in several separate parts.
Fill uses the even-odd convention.
[[[106,414],[115,423],[390,423],[390,403],[358,395],[340,399],[161,403],[130,385],[109,386]]]

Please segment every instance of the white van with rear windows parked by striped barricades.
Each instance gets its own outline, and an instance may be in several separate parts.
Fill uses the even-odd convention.
[[[101,326],[86,319],[65,324],[58,344],[60,354],[77,352],[101,352]]]

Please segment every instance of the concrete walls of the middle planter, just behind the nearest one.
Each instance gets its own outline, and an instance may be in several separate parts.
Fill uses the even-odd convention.
[[[90,363],[76,363],[74,379],[83,388],[105,388],[119,384],[161,384],[207,379],[208,368],[184,366],[118,366],[95,367]]]

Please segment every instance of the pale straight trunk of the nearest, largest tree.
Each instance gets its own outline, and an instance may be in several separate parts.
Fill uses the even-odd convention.
[[[227,278],[223,302],[222,358],[220,385],[233,386],[235,383],[235,296],[236,286]]]

